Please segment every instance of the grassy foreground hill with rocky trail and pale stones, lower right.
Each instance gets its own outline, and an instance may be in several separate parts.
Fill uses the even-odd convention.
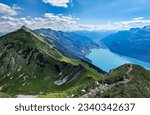
[[[78,90],[77,97],[143,98],[150,97],[150,71],[138,65],[125,64],[89,87]]]

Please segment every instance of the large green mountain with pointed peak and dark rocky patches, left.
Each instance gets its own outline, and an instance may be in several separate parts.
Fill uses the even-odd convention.
[[[46,94],[84,85],[102,76],[86,62],[64,57],[30,29],[0,37],[0,91]]]

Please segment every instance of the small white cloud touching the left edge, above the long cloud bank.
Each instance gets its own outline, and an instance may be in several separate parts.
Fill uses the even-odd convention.
[[[12,7],[0,3],[0,16],[15,16],[17,12]]]

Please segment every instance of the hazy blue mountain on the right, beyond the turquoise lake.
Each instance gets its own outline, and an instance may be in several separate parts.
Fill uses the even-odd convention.
[[[150,62],[150,27],[120,31],[101,40],[112,52]]]

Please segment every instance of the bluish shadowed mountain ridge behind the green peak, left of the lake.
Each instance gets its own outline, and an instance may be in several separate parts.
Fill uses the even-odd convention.
[[[75,59],[86,59],[90,49],[100,48],[98,42],[94,42],[91,38],[78,32],[61,32],[51,29],[34,30],[37,34],[45,38],[45,40],[54,45],[65,56]]]

